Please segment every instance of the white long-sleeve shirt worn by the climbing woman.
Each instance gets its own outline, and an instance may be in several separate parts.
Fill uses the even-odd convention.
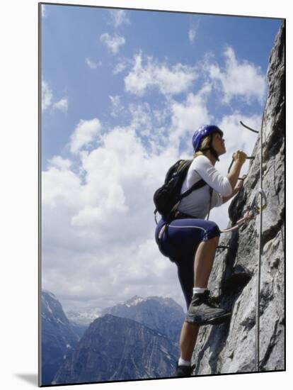
[[[190,189],[200,179],[204,179],[208,186],[196,189],[183,198],[178,206],[178,211],[204,219],[209,212],[211,198],[209,187],[213,189],[211,208],[221,206],[223,203],[222,196],[230,196],[233,189],[229,179],[220,174],[205,155],[195,157],[191,163],[181,188],[181,194]]]

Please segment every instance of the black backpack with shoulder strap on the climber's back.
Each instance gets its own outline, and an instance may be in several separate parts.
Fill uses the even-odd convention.
[[[154,211],[155,219],[156,213],[159,212],[161,216],[170,221],[174,216],[180,200],[191,194],[195,189],[200,189],[207,184],[205,180],[200,179],[190,189],[180,194],[182,184],[192,162],[193,160],[178,160],[168,170],[163,186],[154,193],[154,204],[156,206]]]

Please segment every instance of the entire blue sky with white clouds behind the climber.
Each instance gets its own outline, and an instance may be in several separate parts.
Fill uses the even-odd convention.
[[[234,151],[251,154],[239,120],[260,126],[281,22],[42,6],[42,284],[65,308],[135,294],[184,306],[152,194],[203,123],[224,130],[223,174]],[[212,211],[221,228],[226,209]]]

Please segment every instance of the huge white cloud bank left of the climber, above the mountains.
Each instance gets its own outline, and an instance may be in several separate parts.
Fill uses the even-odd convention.
[[[178,150],[147,151],[140,131],[149,108],[130,110],[129,126],[103,133],[98,147],[81,151],[82,181],[60,156],[42,172],[42,282],[71,308],[83,301],[105,307],[134,294],[171,294],[183,303],[176,267],[154,243],[152,204]]]

